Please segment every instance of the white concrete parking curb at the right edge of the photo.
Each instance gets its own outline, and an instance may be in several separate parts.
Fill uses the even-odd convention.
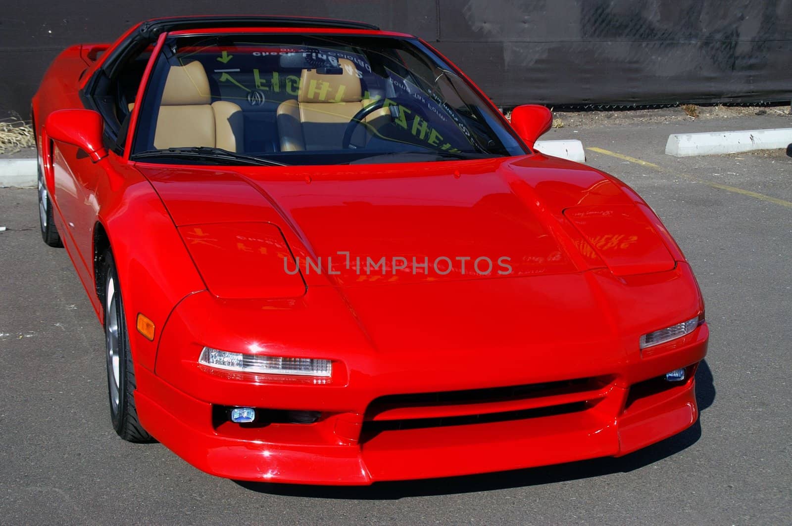
[[[665,153],[674,157],[748,152],[752,149],[786,148],[792,128],[772,130],[714,131],[703,134],[671,134]]]

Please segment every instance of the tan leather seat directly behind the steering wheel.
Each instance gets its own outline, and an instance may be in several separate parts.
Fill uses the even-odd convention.
[[[297,100],[285,100],[278,106],[281,151],[340,149],[349,121],[360,109],[374,102],[363,98],[354,62],[339,59],[338,65],[341,74],[303,70]],[[390,112],[386,108],[368,115],[365,122],[369,126],[361,124],[356,133],[370,137],[371,131],[381,125],[375,120],[386,119],[387,115]]]

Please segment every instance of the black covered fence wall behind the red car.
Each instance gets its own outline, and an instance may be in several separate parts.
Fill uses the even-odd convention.
[[[792,98],[792,0],[2,0],[0,117],[69,44],[199,13],[349,18],[435,44],[501,105]]]

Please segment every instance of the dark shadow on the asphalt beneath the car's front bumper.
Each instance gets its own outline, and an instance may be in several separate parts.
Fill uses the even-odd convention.
[[[715,401],[715,385],[710,366],[703,360],[696,371],[696,402],[705,411]],[[522,486],[539,486],[553,482],[588,479],[613,473],[628,473],[654,464],[658,460],[689,448],[701,437],[701,419],[673,437],[619,458],[581,460],[546,467],[529,467],[482,475],[465,475],[446,479],[425,479],[399,482],[376,482],[371,486],[309,486],[273,484],[268,482],[234,481],[247,490],[290,497],[313,497],[362,500],[397,500],[405,497],[466,494],[477,491],[503,490]]]

